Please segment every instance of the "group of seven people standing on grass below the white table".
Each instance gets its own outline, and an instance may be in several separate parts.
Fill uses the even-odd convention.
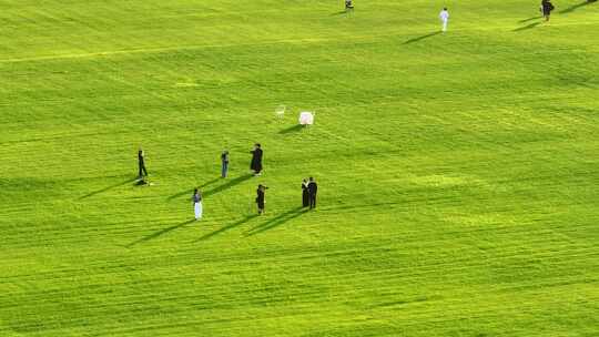
[[[250,162],[250,168],[252,170],[252,173],[257,176],[262,174],[262,157],[264,152],[262,151],[262,145],[260,143],[254,144],[254,149],[250,152],[252,154],[252,161]],[[229,151],[224,150],[221,153],[221,177],[226,178],[229,176]],[[140,147],[138,151],[138,184],[148,184],[146,177],[148,177],[148,170],[145,168],[145,153],[143,149]],[[255,203],[257,205],[257,212],[258,215],[264,214],[264,208],[266,204],[266,187],[265,185],[258,184],[256,190],[256,198]],[[313,210],[316,207],[316,193],[318,191],[318,185],[316,184],[316,181],[314,177],[309,177],[308,180],[303,180],[302,182],[302,206],[303,207],[309,207],[309,210]],[[199,187],[194,188],[193,196],[193,211],[195,215],[195,219],[199,221],[202,218],[203,215],[203,206],[202,206],[202,191],[200,191]]]

